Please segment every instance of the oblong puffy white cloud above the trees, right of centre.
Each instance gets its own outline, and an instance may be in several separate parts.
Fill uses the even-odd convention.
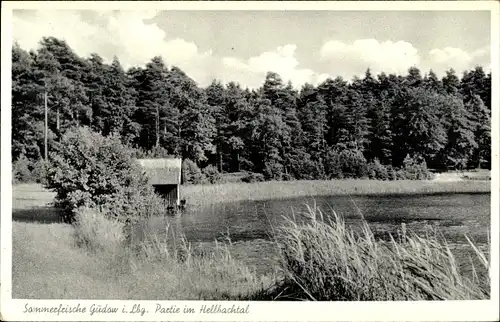
[[[329,72],[348,78],[364,74],[367,68],[373,73],[405,73],[420,63],[418,50],[405,41],[331,40],[321,47],[320,55],[328,63]]]

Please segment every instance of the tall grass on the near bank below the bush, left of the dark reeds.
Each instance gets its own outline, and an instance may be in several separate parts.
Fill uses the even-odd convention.
[[[174,235],[168,222],[163,236],[147,220],[133,227],[88,209],[78,212],[75,223],[79,247],[107,258],[108,269],[122,272],[117,283],[134,290],[127,291],[127,299],[241,299],[273,281],[233,259],[229,244],[196,252],[185,236]],[[142,230],[140,238],[131,238],[137,229]]]

